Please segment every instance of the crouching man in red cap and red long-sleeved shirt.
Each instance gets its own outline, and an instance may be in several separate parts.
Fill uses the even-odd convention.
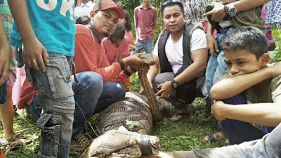
[[[74,63],[77,73],[97,72],[103,78],[103,92],[93,112],[96,114],[112,103],[122,100],[126,91],[120,81],[130,77],[136,71],[134,68],[143,70],[147,69],[148,65],[138,58],[140,53],[113,62],[112,65],[107,60],[100,41],[114,32],[119,18],[125,18],[122,8],[117,7],[111,0],[100,0],[90,15],[91,22],[88,25],[75,26]]]

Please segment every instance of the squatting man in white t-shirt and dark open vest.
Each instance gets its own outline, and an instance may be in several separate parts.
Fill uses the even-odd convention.
[[[179,121],[190,114],[188,104],[195,99],[196,91],[208,98],[204,85],[208,55],[206,34],[202,25],[185,22],[181,1],[165,1],[161,11],[166,29],[155,44],[156,64],[150,67],[148,81],[157,96],[175,105],[178,114],[171,120]],[[157,74],[159,67],[161,72]]]

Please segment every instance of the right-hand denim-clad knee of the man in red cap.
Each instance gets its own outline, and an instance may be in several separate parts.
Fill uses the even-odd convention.
[[[96,105],[96,110],[94,114],[105,110],[106,107],[122,100],[125,97],[126,90],[122,83],[115,81],[108,81],[103,84],[103,93],[101,93],[98,103]]]

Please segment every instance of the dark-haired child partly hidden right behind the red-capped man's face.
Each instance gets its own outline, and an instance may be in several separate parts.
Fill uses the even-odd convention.
[[[123,19],[119,19],[119,22],[124,25],[126,32],[125,32],[125,37],[129,39],[129,51],[135,51],[136,50],[136,44],[135,44],[135,39],[133,38],[133,34],[131,33],[131,17],[128,11],[124,10],[126,13],[126,17]]]

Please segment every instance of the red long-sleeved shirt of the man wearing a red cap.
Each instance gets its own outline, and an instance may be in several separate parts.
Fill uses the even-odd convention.
[[[118,62],[113,62],[110,65],[103,45],[93,36],[93,32],[89,27],[86,25],[75,25],[75,27],[74,63],[77,73],[86,71],[97,72],[103,77],[103,83],[107,81],[121,82],[128,78],[121,70]]]

